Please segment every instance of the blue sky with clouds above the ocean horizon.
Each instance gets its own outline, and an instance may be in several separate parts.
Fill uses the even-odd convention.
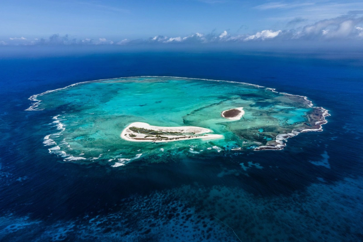
[[[363,1],[1,0],[0,30],[0,45],[363,41]]]

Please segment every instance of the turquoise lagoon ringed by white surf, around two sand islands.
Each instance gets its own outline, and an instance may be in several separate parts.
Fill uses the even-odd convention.
[[[114,167],[140,157],[219,156],[244,149],[282,149],[286,138],[322,131],[329,115],[306,98],[248,83],[177,77],[129,77],[76,83],[33,95],[27,110],[50,110],[54,132],[49,152],[64,161],[105,162]],[[243,107],[237,120],[221,116]],[[133,142],[121,132],[134,122],[151,126],[196,126],[218,139]]]

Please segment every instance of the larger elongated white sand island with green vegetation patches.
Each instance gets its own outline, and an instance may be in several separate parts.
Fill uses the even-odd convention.
[[[206,134],[212,130],[196,126],[162,127],[135,122],[127,126],[121,138],[134,142],[170,142],[186,139],[223,139],[223,135]]]

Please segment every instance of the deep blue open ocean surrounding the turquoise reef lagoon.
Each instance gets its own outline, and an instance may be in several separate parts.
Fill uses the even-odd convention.
[[[362,56],[32,51],[0,57],[0,241],[363,240]],[[52,114],[24,111],[33,94],[140,75],[253,83],[331,116],[281,151],[115,169],[49,153]]]

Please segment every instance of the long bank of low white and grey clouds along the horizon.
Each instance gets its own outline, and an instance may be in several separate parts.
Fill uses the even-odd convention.
[[[303,22],[304,19],[295,18],[290,22]],[[230,34],[227,30],[217,33],[194,33],[187,36],[162,36],[157,35],[146,39],[123,39],[111,41],[106,38],[77,39],[68,34],[60,36],[53,34],[49,38],[35,38],[26,40],[22,38],[10,38],[11,41],[2,41],[0,45],[173,45],[173,44],[219,44],[231,42],[261,42],[261,41],[330,41],[330,40],[357,40],[363,38],[363,17],[344,15],[333,19],[317,21],[313,24],[299,26],[287,30],[265,29],[250,34]],[[20,41],[15,41],[20,40]]]

